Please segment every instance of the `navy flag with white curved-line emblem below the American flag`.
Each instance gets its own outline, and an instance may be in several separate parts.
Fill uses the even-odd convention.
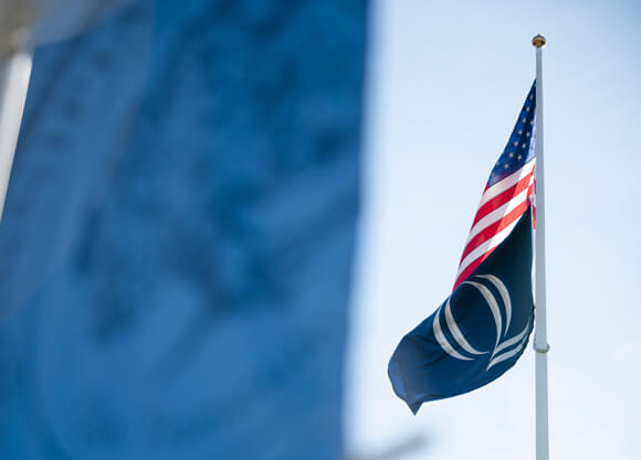
[[[512,233],[389,362],[396,394],[416,414],[422,403],[479,388],[516,363],[533,328],[532,216]]]

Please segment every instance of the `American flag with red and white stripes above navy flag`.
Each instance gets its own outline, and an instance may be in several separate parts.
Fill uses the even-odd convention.
[[[509,235],[534,196],[535,103],[536,82],[481,196],[454,289]]]

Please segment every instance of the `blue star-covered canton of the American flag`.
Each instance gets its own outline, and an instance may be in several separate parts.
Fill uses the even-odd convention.
[[[512,136],[509,136],[507,146],[505,146],[505,150],[503,150],[503,153],[490,174],[490,180],[487,181],[488,188],[507,178],[534,158],[534,149],[533,151],[529,150],[529,143],[534,137],[535,108],[536,81],[532,85],[532,89],[529,89],[529,94],[521,109],[521,114],[516,120]]]

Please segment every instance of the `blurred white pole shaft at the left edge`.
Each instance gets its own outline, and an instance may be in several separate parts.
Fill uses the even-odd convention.
[[[0,79],[0,220],[29,87],[31,55],[20,51],[3,64],[0,63],[0,67],[4,67]]]

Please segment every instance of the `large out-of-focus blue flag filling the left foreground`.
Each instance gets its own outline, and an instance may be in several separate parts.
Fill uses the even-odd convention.
[[[0,459],[340,458],[367,2],[82,3],[0,225]]]

